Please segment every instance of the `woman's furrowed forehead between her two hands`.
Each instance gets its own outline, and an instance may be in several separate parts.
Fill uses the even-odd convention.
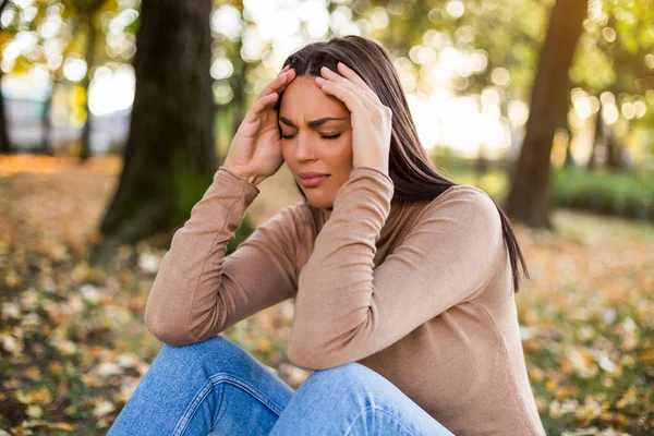
[[[301,122],[350,113],[341,100],[316,85],[313,75],[293,78],[283,92],[279,112],[282,117]]]

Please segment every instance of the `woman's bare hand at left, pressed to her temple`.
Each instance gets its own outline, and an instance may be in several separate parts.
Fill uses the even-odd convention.
[[[222,165],[254,184],[275,174],[283,164],[275,102],[295,77],[295,71],[289,66],[256,96]]]

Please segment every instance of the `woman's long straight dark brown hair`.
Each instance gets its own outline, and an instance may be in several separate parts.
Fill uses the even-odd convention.
[[[457,183],[438,173],[423,148],[395,65],[382,45],[356,35],[335,36],[329,40],[312,43],[294,51],[283,62],[282,68],[290,64],[295,70],[296,76],[320,76],[323,66],[340,74],[336,68],[338,62],[354,70],[377,94],[382,104],[392,110],[388,172],[395,184],[393,199],[411,202],[434,199],[448,187],[456,185]],[[280,93],[275,105],[278,119],[282,96],[283,92]],[[281,128],[279,129],[281,135]],[[300,185],[298,190],[306,199]],[[501,218],[502,234],[513,271],[513,288],[518,292],[520,280],[518,259],[526,278],[530,278],[529,270],[509,219],[497,203],[495,206]]]

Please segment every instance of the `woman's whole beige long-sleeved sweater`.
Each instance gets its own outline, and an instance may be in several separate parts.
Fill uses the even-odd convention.
[[[295,298],[295,365],[359,362],[457,436],[545,435],[501,222],[484,191],[400,202],[388,175],[355,168],[332,210],[286,206],[226,258],[258,193],[218,169],[161,259],[145,310],[152,335],[201,342]]]

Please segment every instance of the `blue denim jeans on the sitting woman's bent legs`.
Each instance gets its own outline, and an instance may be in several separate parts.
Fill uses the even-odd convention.
[[[452,436],[360,363],[316,371],[294,391],[221,336],[185,347],[164,344],[107,433],[208,434]]]

